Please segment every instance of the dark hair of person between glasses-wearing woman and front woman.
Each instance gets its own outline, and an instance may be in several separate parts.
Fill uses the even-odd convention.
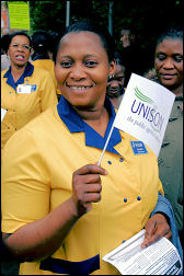
[[[33,49],[36,55],[46,55],[50,48],[50,35],[48,32],[38,30],[32,35]]]

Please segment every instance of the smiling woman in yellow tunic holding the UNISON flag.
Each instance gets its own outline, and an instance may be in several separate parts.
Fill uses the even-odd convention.
[[[3,241],[22,261],[22,275],[117,275],[102,257],[123,240],[143,227],[142,248],[171,238],[172,209],[147,146],[135,156],[136,138],[114,129],[103,166],[96,164],[116,115],[106,96],[113,44],[89,22],[67,27],[55,56],[58,105],[4,147]]]

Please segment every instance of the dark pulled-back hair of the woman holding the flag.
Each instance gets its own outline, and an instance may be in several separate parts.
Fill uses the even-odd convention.
[[[61,38],[69,33],[80,33],[80,32],[92,32],[99,35],[101,42],[106,50],[108,61],[114,60],[115,43],[107,30],[102,28],[92,21],[78,21],[64,30],[61,33]],[[61,39],[60,39],[61,41]],[[56,56],[59,50],[60,43],[58,44],[57,50],[54,54],[54,61],[56,64]]]

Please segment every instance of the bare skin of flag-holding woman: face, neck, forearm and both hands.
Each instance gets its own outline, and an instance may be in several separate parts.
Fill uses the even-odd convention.
[[[80,32],[64,36],[56,60],[56,78],[62,95],[77,113],[104,136],[108,113],[104,107],[108,74],[115,62],[110,62],[100,37]],[[43,219],[27,223],[12,234],[3,233],[10,251],[22,261],[42,260],[56,252],[77,221],[89,212],[93,203],[101,200],[102,180],[107,172],[97,164],[85,164],[72,174],[72,194]],[[158,214],[146,225],[149,245],[160,237],[171,237],[164,216]]]

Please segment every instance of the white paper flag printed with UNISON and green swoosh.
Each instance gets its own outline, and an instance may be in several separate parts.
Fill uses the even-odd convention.
[[[145,142],[158,157],[174,99],[163,85],[131,73],[113,125]]]

